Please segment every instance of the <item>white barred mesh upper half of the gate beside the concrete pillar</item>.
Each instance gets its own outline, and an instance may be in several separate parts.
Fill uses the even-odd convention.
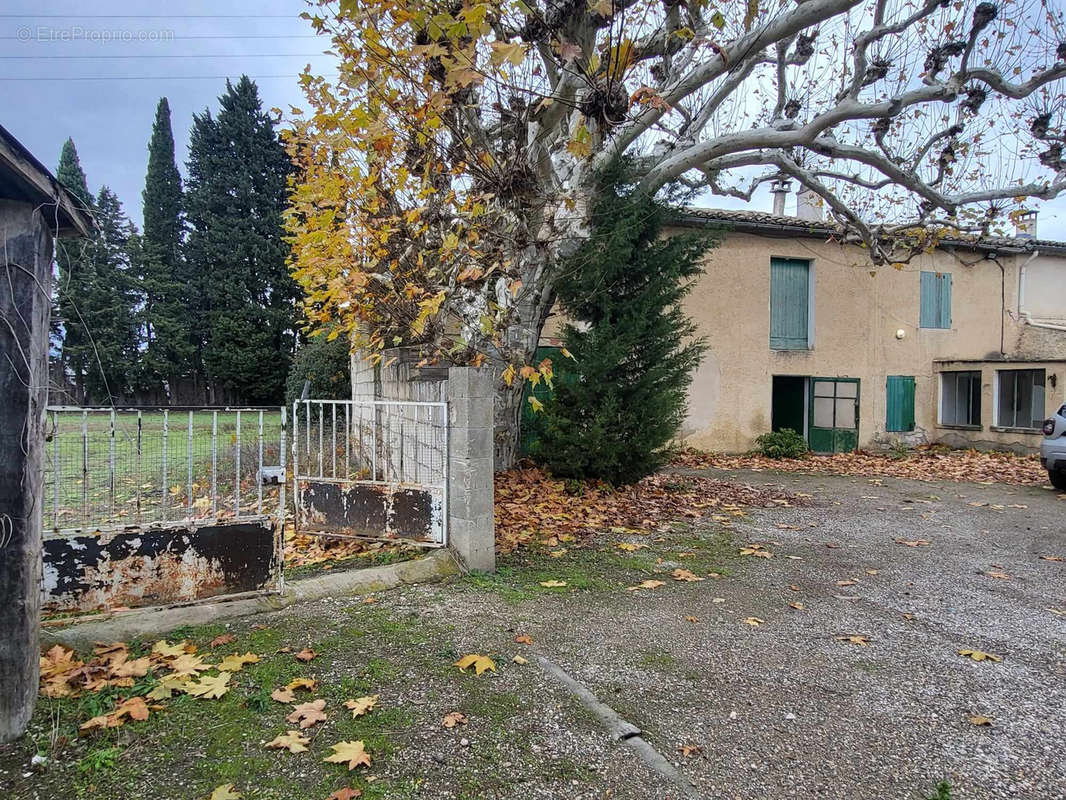
[[[443,490],[448,405],[407,400],[301,400],[293,404],[296,479]]]

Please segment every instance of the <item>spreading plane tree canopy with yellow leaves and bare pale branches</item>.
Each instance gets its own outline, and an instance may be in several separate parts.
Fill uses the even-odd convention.
[[[1066,188],[1063,12],[1038,0],[319,0],[288,224],[314,324],[372,357],[536,346],[551,265],[630,158],[750,197],[798,181],[901,263]],[[510,413],[510,412],[508,412]]]

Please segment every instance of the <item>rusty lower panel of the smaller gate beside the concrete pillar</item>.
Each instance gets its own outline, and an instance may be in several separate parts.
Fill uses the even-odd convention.
[[[387,483],[302,480],[297,528],[386,539],[439,541],[439,493]]]

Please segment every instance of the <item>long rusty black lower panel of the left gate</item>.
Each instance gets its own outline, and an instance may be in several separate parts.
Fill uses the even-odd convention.
[[[95,611],[277,590],[277,533],[262,519],[49,538],[42,606]]]

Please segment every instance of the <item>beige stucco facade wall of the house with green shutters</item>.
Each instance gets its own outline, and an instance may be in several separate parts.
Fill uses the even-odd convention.
[[[770,349],[772,256],[811,261],[810,350]],[[899,270],[874,269],[854,246],[729,234],[708,256],[707,273],[687,302],[689,315],[710,342],[690,391],[683,429],[687,443],[714,450],[749,449],[756,436],[770,430],[775,374],[858,378],[860,446],[897,437],[885,434],[886,378],[914,375],[917,430],[908,438],[940,438],[946,432],[937,427],[939,366],[935,362],[1001,359],[1001,337],[1007,353],[1019,338],[1016,315],[1003,311],[1017,307],[1017,261],[1006,256],[1001,263],[1002,273],[997,263],[981,260],[978,254],[937,251]],[[950,330],[919,327],[919,273],[923,270],[952,274]],[[901,331],[902,338],[898,338]],[[1048,387],[1049,412],[1062,403],[1062,386],[1060,380],[1057,388]],[[991,422],[991,390],[989,375],[986,426]],[[1031,434],[988,438],[1035,444]]]

